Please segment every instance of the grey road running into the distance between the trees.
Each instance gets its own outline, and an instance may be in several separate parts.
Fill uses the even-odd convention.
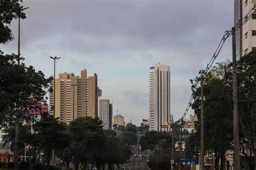
[[[140,136],[138,135],[138,143]],[[139,157],[139,155],[142,155],[142,151],[139,150],[140,146],[139,144],[134,145],[134,151],[133,154],[137,155],[136,157],[131,157],[130,162],[131,166],[130,167],[123,167],[121,168],[122,170],[147,170],[147,160],[142,160],[142,157]]]

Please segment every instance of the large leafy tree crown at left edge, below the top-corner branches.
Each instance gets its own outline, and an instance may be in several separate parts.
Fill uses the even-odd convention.
[[[44,78],[42,71],[32,66],[16,64],[16,55],[0,55],[0,123],[16,124],[18,120],[29,120],[31,105],[46,102],[44,98],[51,78]]]

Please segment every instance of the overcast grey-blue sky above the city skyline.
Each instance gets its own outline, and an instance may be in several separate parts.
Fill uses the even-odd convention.
[[[233,0],[75,1],[23,0],[21,53],[25,63],[53,74],[49,56],[62,57],[56,71],[98,74],[103,96],[139,125],[149,118],[149,69],[170,65],[171,114],[177,120],[191,95],[190,79],[211,59],[233,25]],[[17,52],[16,40],[4,45]],[[217,61],[231,59],[228,39]],[[193,113],[191,110],[190,113]]]

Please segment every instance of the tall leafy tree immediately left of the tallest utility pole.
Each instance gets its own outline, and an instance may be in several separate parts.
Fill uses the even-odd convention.
[[[231,141],[233,135],[232,126],[232,88],[231,81],[227,79],[231,78],[231,69],[229,62],[218,63],[214,67],[215,72],[219,76],[215,76],[211,72],[208,73],[204,80],[204,115],[205,115],[205,149],[206,151],[214,151],[216,154],[215,162],[220,159],[221,167],[224,166],[225,153],[228,149],[231,149]],[[223,73],[223,74],[221,74]],[[197,115],[200,123],[200,102],[201,102],[201,88],[194,89],[192,86],[194,102],[192,108]],[[200,128],[197,128],[197,138],[194,135],[190,135],[194,140],[199,141]],[[196,143],[193,143],[196,144]],[[190,144],[190,150],[193,151],[195,147]],[[191,153],[192,155],[194,154]]]

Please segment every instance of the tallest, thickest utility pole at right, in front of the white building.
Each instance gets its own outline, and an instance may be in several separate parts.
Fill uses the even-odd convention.
[[[237,54],[235,52],[235,28],[232,28],[232,64],[233,64],[233,133],[234,133],[234,170],[240,170],[240,146],[238,123],[238,93],[237,93]]]

